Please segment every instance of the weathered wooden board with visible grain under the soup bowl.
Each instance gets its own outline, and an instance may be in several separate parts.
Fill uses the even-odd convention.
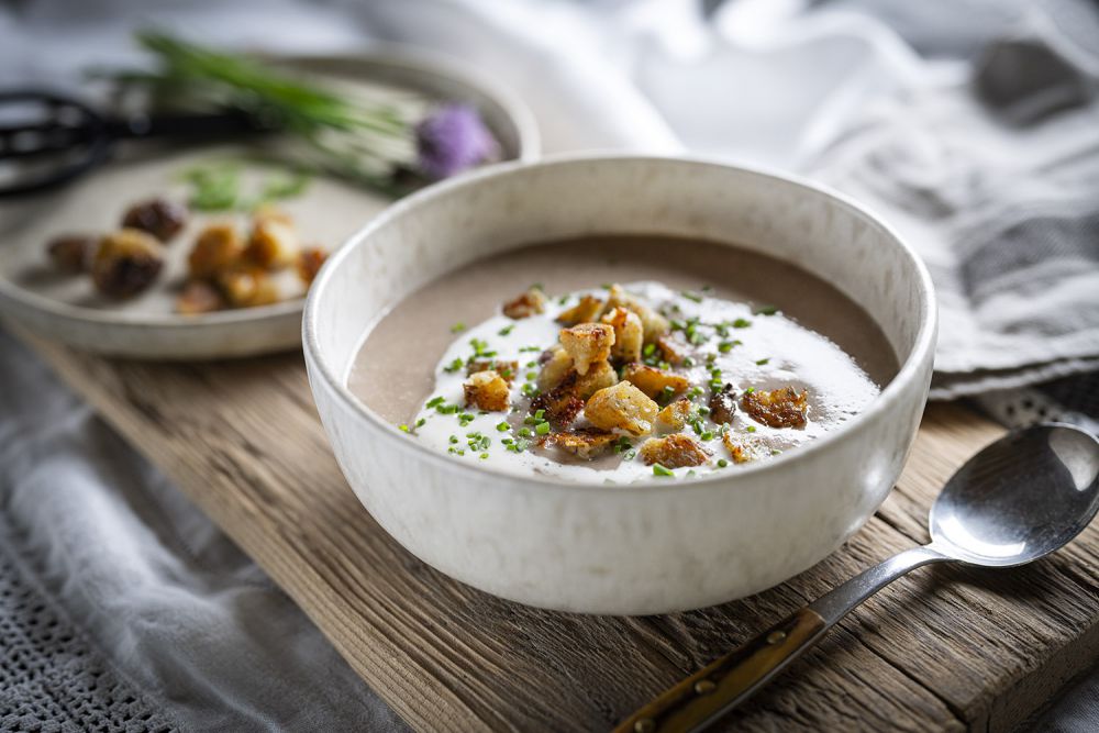
[[[27,341],[297,601],[413,728],[602,731],[836,582],[928,540],[942,481],[1002,429],[928,410],[881,510],[842,549],[758,596],[639,619],[539,611],[423,565],[336,467],[300,354],[112,362]],[[728,725],[1009,731],[1099,658],[1099,525],[1015,570],[932,567],[855,611]]]

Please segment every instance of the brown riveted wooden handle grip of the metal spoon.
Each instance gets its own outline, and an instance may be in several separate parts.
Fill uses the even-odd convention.
[[[698,730],[746,700],[829,628],[817,611],[795,611],[740,648],[712,662],[622,721],[614,733]]]

